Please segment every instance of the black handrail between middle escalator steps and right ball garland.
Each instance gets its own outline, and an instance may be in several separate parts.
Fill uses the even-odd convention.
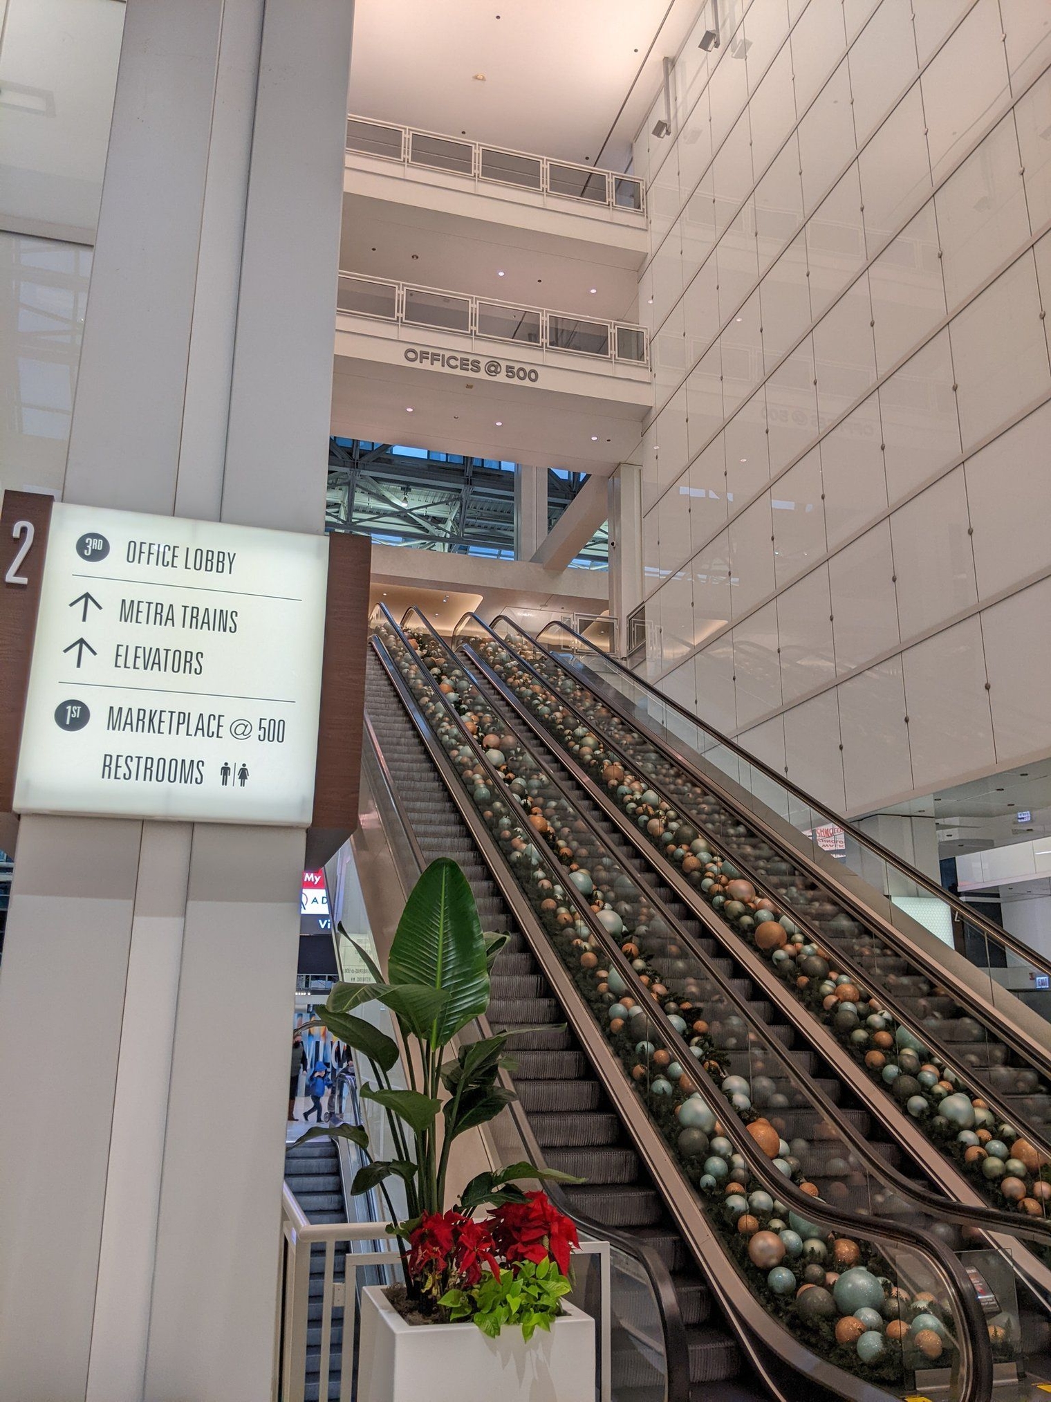
[[[521,702],[518,702],[517,698],[510,693],[506,683],[503,683],[503,680],[493,673],[492,667],[489,667],[485,663],[485,659],[479,658],[478,653],[475,653],[474,648],[471,648],[469,645],[464,645],[464,651],[468,653],[471,660],[479,667],[486,680],[499,691],[503,704],[506,707],[513,708],[516,715],[518,715],[523,722],[530,725],[537,737],[542,742],[544,732],[542,729],[540,729],[540,723],[535,719],[530,718],[528,711],[526,711]],[[506,716],[503,719],[506,721]],[[514,722],[509,722],[507,729],[518,739],[521,739],[518,726]],[[605,816],[618,827],[622,836],[632,843],[632,845],[643,857],[643,859],[653,859],[653,848],[645,843],[645,838],[642,838],[632,830],[631,823],[628,823],[612,805],[603,802],[603,795],[598,791],[594,781],[572,760],[568,761],[568,757],[559,754],[558,758],[561,763],[566,764],[566,768],[572,774],[573,780],[577,784],[580,784],[580,787],[587,792],[587,795],[594,802],[598,803]],[[594,833],[593,824],[584,815],[579,813],[579,809],[576,809],[576,805],[573,803],[572,798],[565,792],[565,788],[559,782],[559,780],[551,773],[548,773],[548,778],[551,784],[562,794],[565,801],[572,808],[575,808],[582,820]],[[596,836],[598,836],[600,841],[603,840],[601,834]],[[741,995],[733,988],[731,981],[726,977],[726,974],[723,974],[720,969],[716,967],[716,965],[710,960],[710,956],[705,953],[705,951],[696,944],[695,938],[689,934],[689,931],[687,931],[677,920],[677,917],[673,916],[673,913],[667,908],[660,896],[657,896],[654,890],[647,887],[646,899],[659,913],[659,916],[666,921],[668,928],[673,930],[675,938],[689,949],[691,955],[698,960],[698,963],[705,966],[705,977],[710,979],[712,983],[717,984],[720,994],[729,1002],[734,1004],[739,1014],[741,1014],[741,1016],[747,1023],[750,1025],[757,1023],[755,1014],[748,1008],[747,1002],[741,998]],[[701,923],[709,931],[712,931],[712,934],[716,938],[720,938],[720,934],[716,928],[717,917],[715,916],[715,913],[706,906],[702,906],[701,908],[695,907],[695,913],[701,920]],[[720,944],[726,945],[726,941],[720,938]],[[811,1019],[806,1012],[806,1009],[795,1002],[779,1004],[779,1008],[786,1015],[792,1026],[803,1037],[803,1040],[811,1044],[818,1056],[825,1059],[821,1047],[811,1040],[810,1035],[811,1028],[809,1026],[809,1023],[811,1023]],[[764,1026],[762,1023],[758,1025],[761,1028]],[[775,1039],[768,1037],[768,1040],[774,1047],[774,1054],[783,1061],[785,1057],[776,1049]],[[848,1081],[852,1089],[855,1089],[855,1080],[860,1085],[870,1084],[853,1060],[848,1059],[845,1064],[849,1066],[851,1074],[844,1075],[842,1078]],[[832,1067],[832,1070],[835,1071],[837,1075],[841,1074],[838,1067]],[[795,1073],[792,1074],[795,1075]],[[839,1122],[837,1106],[834,1106],[831,1101],[827,1099],[824,1091],[821,1091],[820,1087],[817,1085],[811,1087],[809,1089],[809,1094],[814,1096],[814,1102],[817,1108],[820,1108],[821,1113],[824,1113],[830,1120],[837,1123],[844,1138],[846,1138],[853,1151],[862,1159],[865,1159],[865,1162],[870,1166],[873,1173],[877,1178],[888,1179],[893,1183],[895,1192],[900,1193],[901,1197],[915,1202],[930,1216],[957,1221],[963,1227],[974,1227],[982,1231],[999,1231],[1010,1237],[1020,1237],[1027,1241],[1041,1242],[1044,1245],[1051,1242],[1051,1221],[1043,1221],[1043,1220],[1040,1223],[1037,1223],[1036,1220],[1030,1221],[1024,1217],[1019,1217],[1017,1214],[1001,1213],[995,1207],[964,1206],[963,1203],[956,1203],[953,1200],[940,1197],[937,1193],[933,1193],[929,1189],[916,1186],[891,1164],[886,1164],[879,1157],[879,1154],[874,1152],[874,1150],[865,1138],[865,1136],[860,1134],[858,1130],[855,1130],[852,1124],[849,1124],[848,1122],[842,1123]],[[884,1120],[883,1123],[886,1124],[887,1122]],[[891,1129],[891,1126],[887,1127]],[[898,1144],[901,1144],[905,1152],[911,1154],[911,1150],[905,1144],[902,1144],[898,1134],[894,1134],[894,1138],[898,1141]],[[912,1157],[915,1158],[915,1155]],[[922,1162],[918,1166],[921,1166],[926,1172],[926,1166]]]

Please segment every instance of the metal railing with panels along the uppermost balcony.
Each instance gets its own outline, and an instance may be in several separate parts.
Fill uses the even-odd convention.
[[[646,185],[635,175],[554,161],[531,151],[514,151],[483,142],[467,142],[437,132],[392,122],[373,122],[366,116],[348,116],[346,149],[374,156],[399,165],[446,171],[486,185],[510,185],[572,199],[579,205],[624,210],[645,216]]]

